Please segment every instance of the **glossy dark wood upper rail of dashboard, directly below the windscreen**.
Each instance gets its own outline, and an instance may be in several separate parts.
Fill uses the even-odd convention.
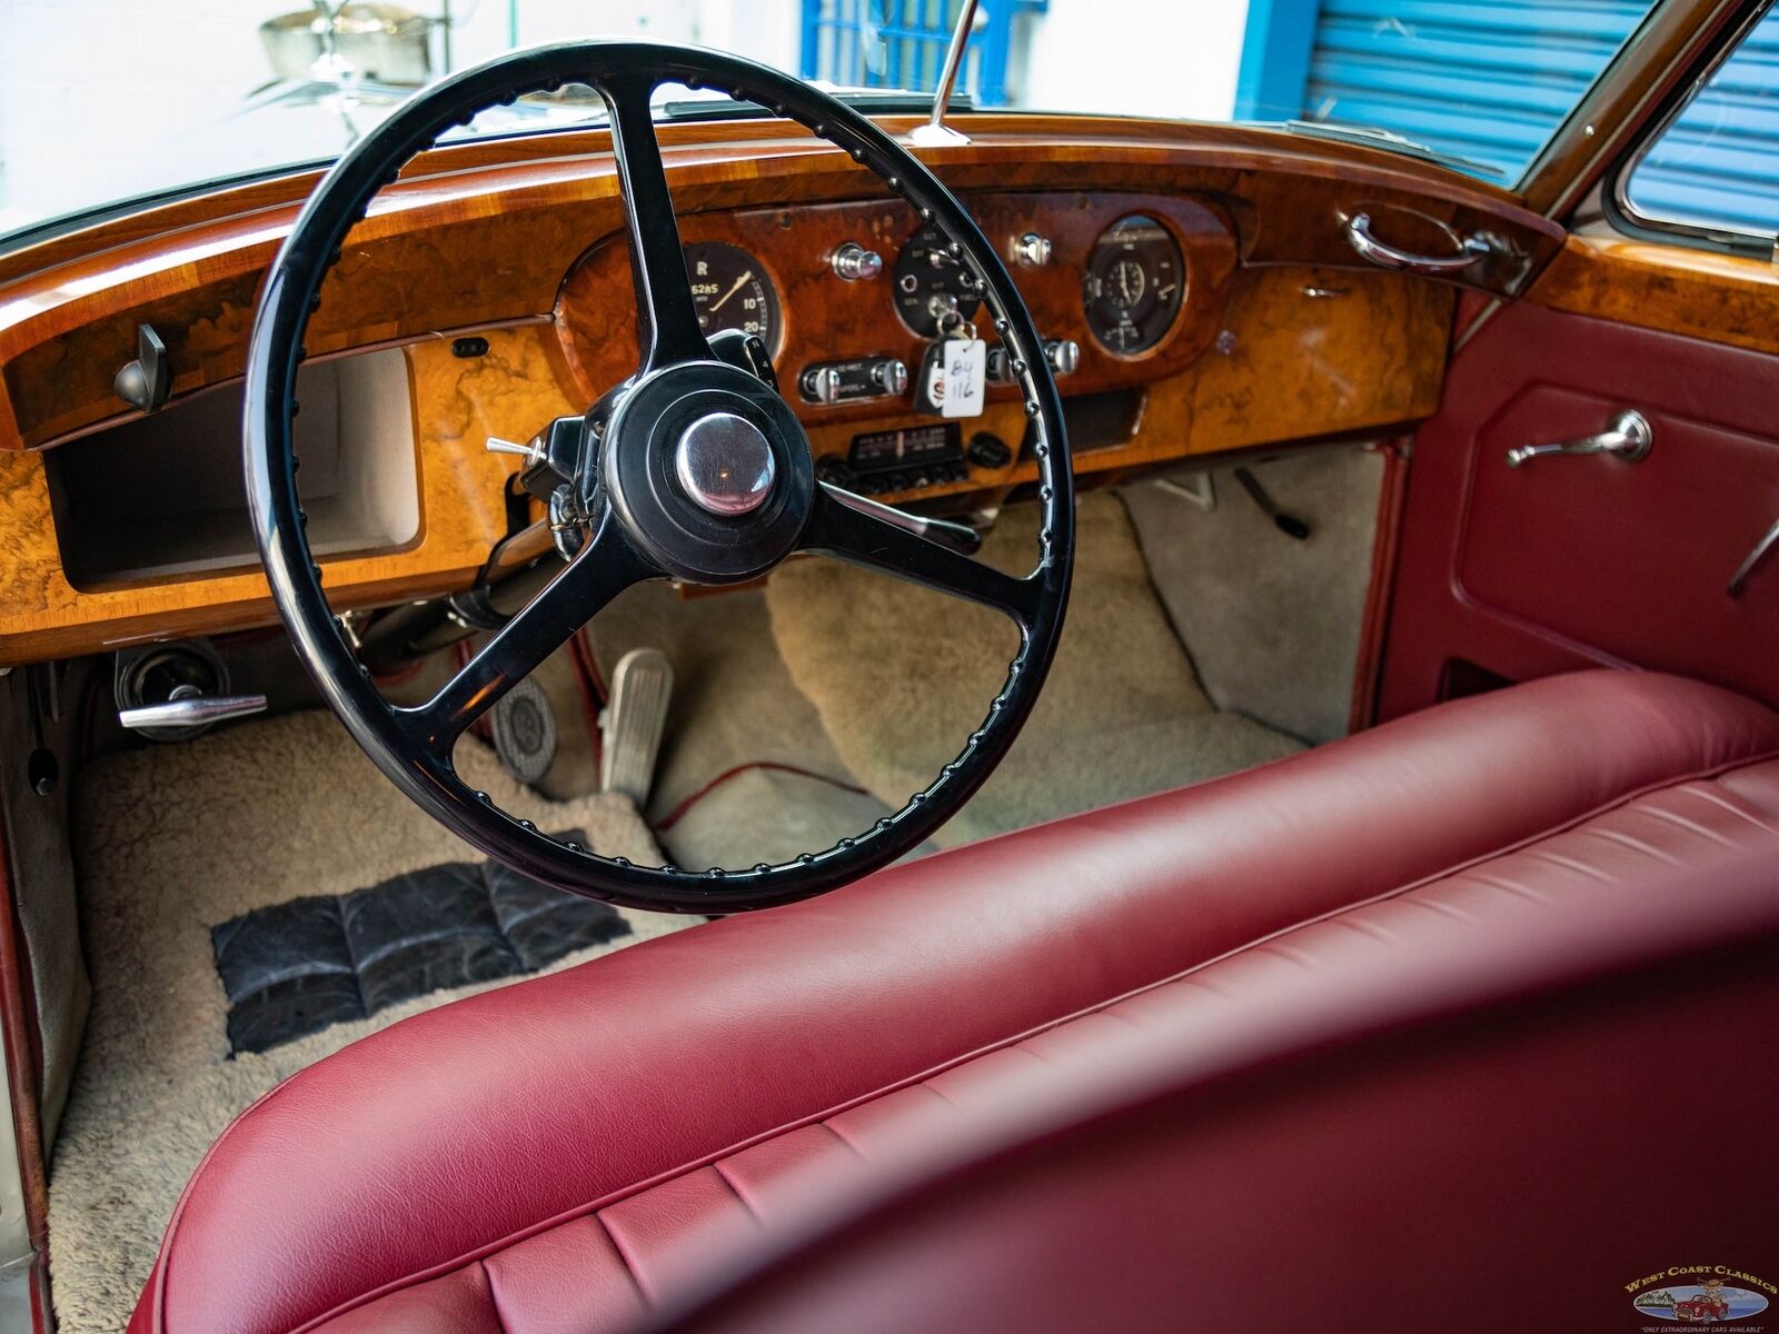
[[[685,130],[669,126],[664,139],[674,201],[687,217],[882,197],[881,183],[843,153],[776,123],[747,125],[756,135],[749,141],[735,141],[733,125],[731,137],[713,126]],[[980,135],[922,155],[964,192],[1059,183],[1195,192],[1231,213],[1251,265],[1361,267],[1340,224],[1368,205],[1503,237],[1517,258],[1469,274],[1494,292],[1516,290],[1562,238],[1510,197],[1455,173],[1277,130],[1034,116],[986,117]],[[519,142],[441,149],[452,171],[407,176],[377,197],[324,285],[311,354],[553,309],[576,258],[619,228],[616,176],[601,151],[498,157]],[[226,203],[246,212],[171,233],[96,228],[89,240],[98,249],[52,245],[60,263],[0,285],[0,379],[11,402],[0,414],[0,448],[39,448],[128,420],[110,381],[135,356],[141,322],[169,340],[176,397],[237,377],[253,292],[295,217],[295,203],[267,203],[270,192],[270,185],[226,192]]]

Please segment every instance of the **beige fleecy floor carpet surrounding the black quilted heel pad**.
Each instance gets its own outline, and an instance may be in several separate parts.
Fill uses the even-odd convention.
[[[585,829],[612,856],[658,856],[623,799],[544,800],[473,742],[457,763],[544,829]],[[50,1263],[60,1329],[89,1334],[123,1329],[185,1179],[237,1112],[352,1039],[463,994],[231,1058],[210,927],[480,854],[390,786],[326,713],[110,756],[80,775],[73,811],[93,1014],[52,1160]],[[690,921],[624,916],[632,936],[555,968]]]

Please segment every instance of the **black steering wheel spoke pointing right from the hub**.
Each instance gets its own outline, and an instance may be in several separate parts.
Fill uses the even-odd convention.
[[[1035,576],[1019,578],[971,560],[962,551],[923,537],[918,525],[918,516],[824,482],[815,491],[815,512],[804,530],[802,548],[993,607],[1012,617],[1021,630],[1032,628],[1042,601],[1042,587]]]

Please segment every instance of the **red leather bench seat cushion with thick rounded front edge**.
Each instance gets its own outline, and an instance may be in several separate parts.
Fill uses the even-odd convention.
[[[441,1007],[217,1140],[132,1329],[628,1327],[872,1126],[941,1135],[945,1071],[1775,754],[1722,690],[1553,678]]]

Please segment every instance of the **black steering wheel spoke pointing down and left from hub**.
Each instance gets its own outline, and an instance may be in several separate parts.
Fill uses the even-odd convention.
[[[658,578],[607,514],[594,535],[550,583],[466,662],[431,701],[397,719],[436,759],[514,685],[568,644],[624,589]]]

